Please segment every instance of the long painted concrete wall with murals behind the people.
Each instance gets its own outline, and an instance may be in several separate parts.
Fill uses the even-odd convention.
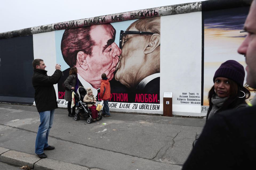
[[[245,36],[239,31],[242,31],[249,5],[250,1],[211,0],[131,11],[0,33],[2,38],[0,43],[6,44],[10,40],[15,42],[17,41],[15,36],[24,39],[27,37],[25,35],[32,34],[33,39],[26,40],[27,44],[33,44],[30,45],[33,53],[27,55],[28,63],[32,63],[33,59],[43,59],[48,75],[53,74],[56,63],[62,65],[63,76],[59,83],[54,85],[59,107],[67,106],[64,100],[65,90],[62,89],[61,84],[68,76],[70,67],[75,65],[80,70],[79,85],[93,88],[97,103],[102,103],[98,95],[100,78],[97,77],[103,72],[107,73],[111,83],[109,102],[111,111],[163,114],[165,104],[163,94],[173,92],[173,114],[205,116],[208,105],[207,92],[213,85],[212,78],[219,65],[233,59],[245,66],[243,56],[238,55],[236,49]],[[134,22],[141,22],[141,28],[133,27]],[[120,47],[121,51],[118,47],[119,34],[121,30],[128,30],[129,26],[129,31],[153,33],[126,35],[126,39],[123,40],[125,43]],[[159,32],[155,32],[154,27]],[[65,28],[71,29],[65,31]],[[64,60],[64,49],[61,48],[64,35],[68,31],[86,31],[88,28],[95,44],[104,41],[107,43],[109,39],[115,39],[108,46],[105,44],[104,49],[111,50],[101,51],[101,48],[96,49],[93,46],[91,56],[88,57],[83,53],[82,59],[85,59],[83,62],[87,63],[87,67],[83,67],[78,64],[77,55],[77,52],[82,50],[75,44],[76,63],[72,64],[67,59]],[[79,38],[81,41],[89,42],[88,37],[74,34],[67,41],[69,50],[72,50],[73,40],[78,43]],[[98,47],[101,47],[100,45],[102,44]],[[5,80],[3,66],[9,61],[4,55],[7,52],[8,46],[3,48],[1,45],[2,80]],[[17,52],[11,57],[18,58],[18,56]],[[68,57],[70,56],[71,53]],[[115,67],[117,71],[114,72]],[[27,74],[30,76],[33,74],[32,66],[31,72]],[[15,78],[15,75],[13,77]],[[144,82],[145,87],[139,88]],[[21,82],[21,86],[27,85]],[[9,86],[9,88],[13,87]],[[253,97],[254,90],[251,89],[251,92]],[[22,99],[26,101],[21,102]],[[1,88],[0,101],[32,104],[33,98],[24,94],[11,96]]]

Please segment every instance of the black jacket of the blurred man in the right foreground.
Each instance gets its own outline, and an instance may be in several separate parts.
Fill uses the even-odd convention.
[[[254,169],[256,106],[215,114],[203,128],[185,169]]]

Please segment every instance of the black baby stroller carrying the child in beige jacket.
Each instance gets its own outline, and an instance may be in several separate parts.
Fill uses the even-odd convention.
[[[87,104],[93,104],[94,102],[83,102],[83,98],[87,94],[84,87],[79,87],[77,93],[75,94],[75,102],[77,103],[77,114],[74,115],[74,120],[78,121],[80,117],[86,118],[87,123],[92,122],[91,111]],[[98,111],[99,120],[102,119],[101,113]]]

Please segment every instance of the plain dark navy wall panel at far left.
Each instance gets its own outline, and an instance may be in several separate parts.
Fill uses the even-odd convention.
[[[0,40],[0,96],[34,98],[33,35]]]

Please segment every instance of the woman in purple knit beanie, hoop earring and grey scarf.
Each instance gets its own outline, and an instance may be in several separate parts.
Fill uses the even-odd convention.
[[[235,60],[221,64],[214,74],[214,85],[208,93],[209,109],[206,121],[223,110],[245,107],[250,92],[243,86],[245,70]]]

